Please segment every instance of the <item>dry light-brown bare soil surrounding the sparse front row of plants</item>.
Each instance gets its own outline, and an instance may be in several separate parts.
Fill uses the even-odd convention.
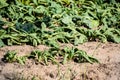
[[[61,44],[64,46],[73,45]],[[97,58],[100,64],[69,61],[65,65],[42,65],[30,59],[25,65],[5,63],[2,58],[8,50],[17,50],[21,56],[29,55],[32,50],[48,49],[44,45],[6,46],[0,48],[0,80],[120,80],[120,44],[87,42],[75,47]]]

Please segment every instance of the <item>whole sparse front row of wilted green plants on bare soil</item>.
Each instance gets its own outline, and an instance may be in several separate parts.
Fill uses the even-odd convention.
[[[60,59],[58,58],[60,57]],[[8,51],[4,56],[4,60],[6,62],[18,62],[22,65],[25,64],[26,59],[34,59],[41,64],[47,65],[48,62],[52,62],[54,64],[58,63],[67,63],[69,60],[74,60],[76,62],[97,62],[99,61],[92,56],[88,56],[87,53],[83,50],[79,50],[77,48],[68,48],[65,47],[63,49],[59,48],[50,48],[48,50],[40,51],[34,50],[31,52],[29,56],[17,56],[15,51]]]

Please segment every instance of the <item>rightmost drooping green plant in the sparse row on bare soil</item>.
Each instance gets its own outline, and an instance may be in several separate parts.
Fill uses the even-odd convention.
[[[63,50],[64,52],[64,60],[63,63],[67,62],[67,60],[74,60],[76,62],[89,62],[89,63],[93,63],[93,62],[99,62],[97,59],[88,56],[87,53],[83,50],[79,50],[77,48],[68,48],[65,47]]]

